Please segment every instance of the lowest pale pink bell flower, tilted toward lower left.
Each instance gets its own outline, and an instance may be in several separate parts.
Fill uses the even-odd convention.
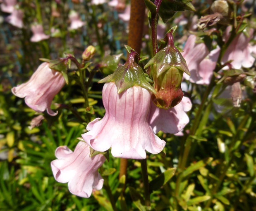
[[[56,160],[51,162],[53,176],[60,183],[68,183],[69,191],[77,196],[89,198],[93,188],[100,190],[103,178],[98,168],[105,162],[102,154],[89,157],[89,145],[80,141],[74,152],[67,146],[55,151]]]

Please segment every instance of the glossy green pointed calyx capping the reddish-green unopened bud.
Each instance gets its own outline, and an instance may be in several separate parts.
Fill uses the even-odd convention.
[[[146,63],[144,68],[155,65],[156,68],[154,69],[157,71],[157,77],[172,67],[190,75],[185,59],[173,44],[172,33],[167,33],[165,38],[167,38],[167,46],[157,52],[156,55]]]

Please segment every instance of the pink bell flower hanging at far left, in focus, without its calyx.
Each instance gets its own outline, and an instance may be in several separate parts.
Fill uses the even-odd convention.
[[[25,98],[27,106],[41,113],[45,109],[51,116],[57,115],[50,109],[54,96],[65,85],[63,75],[49,68],[49,63],[42,63],[33,73],[28,82],[12,88],[12,93]]]

